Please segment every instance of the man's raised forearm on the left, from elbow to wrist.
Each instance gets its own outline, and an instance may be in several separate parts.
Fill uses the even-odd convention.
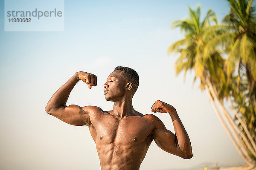
[[[64,85],[61,86],[51,97],[45,110],[48,112],[51,109],[58,108],[60,106],[66,105],[67,99],[70,92],[74,88],[77,82],[79,82],[78,73],[74,74]]]

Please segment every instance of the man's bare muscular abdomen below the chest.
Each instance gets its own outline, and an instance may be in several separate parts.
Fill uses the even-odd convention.
[[[96,142],[101,170],[139,170],[150,144],[101,144]]]

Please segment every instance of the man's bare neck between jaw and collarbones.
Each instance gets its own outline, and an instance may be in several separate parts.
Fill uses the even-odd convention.
[[[132,99],[122,99],[114,102],[112,115],[123,118],[124,116],[134,116],[136,111],[132,106]]]

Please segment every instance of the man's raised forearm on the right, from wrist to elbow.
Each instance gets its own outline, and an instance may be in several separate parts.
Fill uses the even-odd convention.
[[[169,112],[172,118],[172,123],[175,130],[175,135],[177,136],[177,142],[179,144],[180,150],[183,151],[185,157],[192,157],[192,147],[189,140],[189,135],[186,133],[185,127],[183,126],[176,110]]]

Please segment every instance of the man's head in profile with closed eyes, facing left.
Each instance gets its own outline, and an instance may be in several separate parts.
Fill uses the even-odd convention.
[[[104,85],[105,98],[108,101],[116,101],[123,96],[133,97],[139,86],[139,75],[128,67],[118,66],[108,76]]]

